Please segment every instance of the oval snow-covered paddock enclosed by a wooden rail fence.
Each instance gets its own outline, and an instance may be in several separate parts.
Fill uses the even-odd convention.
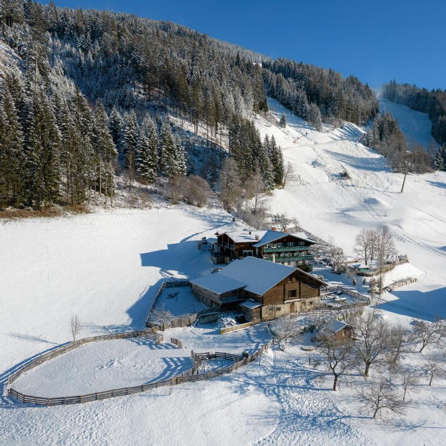
[[[23,374],[14,389],[56,397],[140,386],[193,366],[190,351],[151,339],[113,339],[82,345]]]

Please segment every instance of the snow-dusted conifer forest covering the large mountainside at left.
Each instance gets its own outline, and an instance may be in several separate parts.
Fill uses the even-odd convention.
[[[272,189],[282,181],[281,152],[250,121],[268,111],[267,94],[317,129],[378,111],[356,78],[272,61],[171,22],[0,4],[0,38],[18,57],[0,79],[0,208],[76,205],[96,193],[112,200],[123,171],[130,187],[189,173],[167,113],[195,132],[203,123],[215,144],[226,131],[242,181],[260,173]]]

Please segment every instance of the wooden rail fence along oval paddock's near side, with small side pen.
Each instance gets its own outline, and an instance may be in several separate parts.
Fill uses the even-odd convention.
[[[136,333],[136,332],[132,332]],[[167,380],[163,381],[157,381],[156,383],[150,383],[150,384],[142,384],[140,386],[134,386],[134,387],[125,387],[121,389],[113,389],[113,390],[105,390],[100,392],[94,392],[94,393],[87,393],[85,395],[78,395],[78,396],[60,396],[60,397],[42,397],[42,396],[33,396],[33,395],[25,395],[21,392],[18,392],[14,389],[8,389],[8,395],[13,396],[14,398],[18,399],[19,401],[22,401],[24,403],[31,403],[31,404],[37,404],[37,405],[45,405],[45,406],[56,406],[56,405],[67,405],[67,404],[79,404],[79,403],[85,403],[85,402],[91,402],[91,401],[99,401],[102,399],[108,399],[108,398],[114,398],[116,396],[123,396],[123,395],[131,395],[133,393],[138,392],[144,392],[146,390],[151,389],[158,389],[160,387],[166,387],[166,386],[175,386],[177,384],[187,383],[187,382],[195,382],[195,381],[205,381],[210,378],[222,376],[224,374],[236,371],[240,367],[245,366],[246,364],[249,364],[250,362],[257,359],[263,352],[268,350],[270,344],[272,341],[267,342],[266,344],[262,345],[255,353],[252,355],[249,355],[247,357],[242,357],[238,355],[234,355],[231,353],[223,353],[223,352],[216,352],[216,353],[194,353],[191,352],[192,359],[194,359],[195,364],[194,367],[191,369],[193,370],[193,373],[184,372],[183,374],[169,378]],[[199,366],[201,365],[201,361],[204,358],[223,358],[223,359],[229,359],[235,361],[234,364],[222,367],[217,370],[213,370],[211,372],[206,373],[198,373]]]

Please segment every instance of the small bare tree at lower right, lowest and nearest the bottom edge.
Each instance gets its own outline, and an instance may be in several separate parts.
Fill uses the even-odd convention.
[[[357,391],[364,408],[372,413],[372,418],[387,420],[388,415],[403,415],[407,402],[402,401],[395,387],[385,378]]]

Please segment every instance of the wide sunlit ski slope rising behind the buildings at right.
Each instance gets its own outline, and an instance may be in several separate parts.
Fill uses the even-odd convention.
[[[352,254],[361,227],[389,225],[399,253],[426,273],[393,293],[398,301],[391,311],[413,315],[416,307],[422,317],[446,317],[446,173],[410,175],[401,194],[402,175],[390,172],[385,158],[357,143],[362,129],[347,123],[318,132],[277,101],[270,98],[268,105],[278,119],[285,113],[286,128],[261,117],[256,125],[262,136],[274,134],[285,164],[290,162],[296,174],[284,189],[273,192],[272,211],[296,217],[324,239],[333,236],[347,254]],[[340,178],[343,169],[350,180]]]

